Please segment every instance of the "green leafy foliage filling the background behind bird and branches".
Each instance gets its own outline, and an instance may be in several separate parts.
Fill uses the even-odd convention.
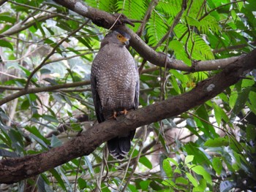
[[[86,3],[133,20],[143,20],[150,6],[147,0]],[[141,38],[189,66],[193,60],[249,53],[255,46],[255,0],[189,0],[176,18],[182,6],[178,0],[158,1]],[[53,1],[7,1],[0,10],[0,101],[26,85],[43,88],[85,81],[77,88],[29,93],[1,105],[0,159],[42,153],[95,123],[87,81],[91,62],[107,30]],[[69,35],[82,23],[86,23],[83,28]],[[136,32],[140,24],[136,23],[132,30]],[[61,40],[64,42],[59,45]],[[53,48],[53,55],[44,61]],[[131,52],[141,66],[143,58],[132,48]],[[186,93],[197,82],[219,72],[164,72],[148,63],[143,69],[142,107]],[[124,161],[105,159],[102,145],[91,155],[73,159],[38,177],[10,186],[0,184],[0,191],[7,187],[12,191],[92,191],[97,187],[101,191],[134,192],[255,191],[255,116],[255,72],[250,72],[205,104],[152,123],[147,130],[138,128]],[[102,164],[105,160],[107,166]]]

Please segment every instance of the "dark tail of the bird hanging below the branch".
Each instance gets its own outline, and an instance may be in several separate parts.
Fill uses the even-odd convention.
[[[131,131],[128,137],[115,137],[108,141],[108,150],[110,155],[117,159],[123,159],[131,148],[131,140],[135,131]]]

